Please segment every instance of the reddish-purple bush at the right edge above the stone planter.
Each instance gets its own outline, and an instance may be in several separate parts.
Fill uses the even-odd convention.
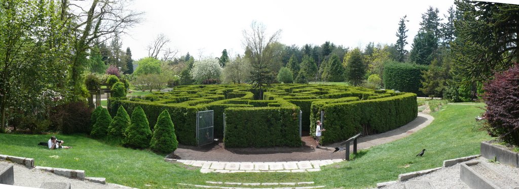
[[[484,89],[488,134],[519,146],[519,64],[496,74]]]

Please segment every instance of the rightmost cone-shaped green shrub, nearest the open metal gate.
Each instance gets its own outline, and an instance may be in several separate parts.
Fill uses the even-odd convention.
[[[176,140],[175,128],[168,110],[162,111],[157,118],[153,131],[152,142],[149,147],[160,153],[171,153],[179,146],[179,141]]]

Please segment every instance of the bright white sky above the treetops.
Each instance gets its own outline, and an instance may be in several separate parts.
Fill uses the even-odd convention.
[[[421,14],[432,6],[444,18],[454,0],[364,0],[364,1],[162,1],[134,0],[128,9],[144,12],[143,22],[122,36],[122,47],[130,47],[132,58],[148,55],[146,46],[160,34],[178,50],[195,59],[219,57],[227,49],[231,56],[243,54],[243,30],[253,20],[262,22],[271,35],[282,30],[279,42],[303,47],[330,41],[344,47],[362,47],[368,42],[395,43],[400,19],[407,15],[407,45],[418,32]],[[443,22],[443,21],[442,21]]]

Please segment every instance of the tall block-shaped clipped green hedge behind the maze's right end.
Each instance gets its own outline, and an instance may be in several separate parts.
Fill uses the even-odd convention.
[[[424,96],[420,91],[423,79],[421,72],[427,69],[425,65],[389,62],[384,67],[384,86],[386,89]]]

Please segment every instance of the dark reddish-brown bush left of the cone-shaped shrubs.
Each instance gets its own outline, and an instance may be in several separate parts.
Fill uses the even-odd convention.
[[[76,101],[52,108],[50,120],[52,125],[61,130],[63,134],[90,134],[92,125],[95,123],[95,120],[90,119],[93,117],[93,113],[95,111],[92,112],[92,108],[86,102]],[[95,115],[95,119],[97,119],[97,115]]]

